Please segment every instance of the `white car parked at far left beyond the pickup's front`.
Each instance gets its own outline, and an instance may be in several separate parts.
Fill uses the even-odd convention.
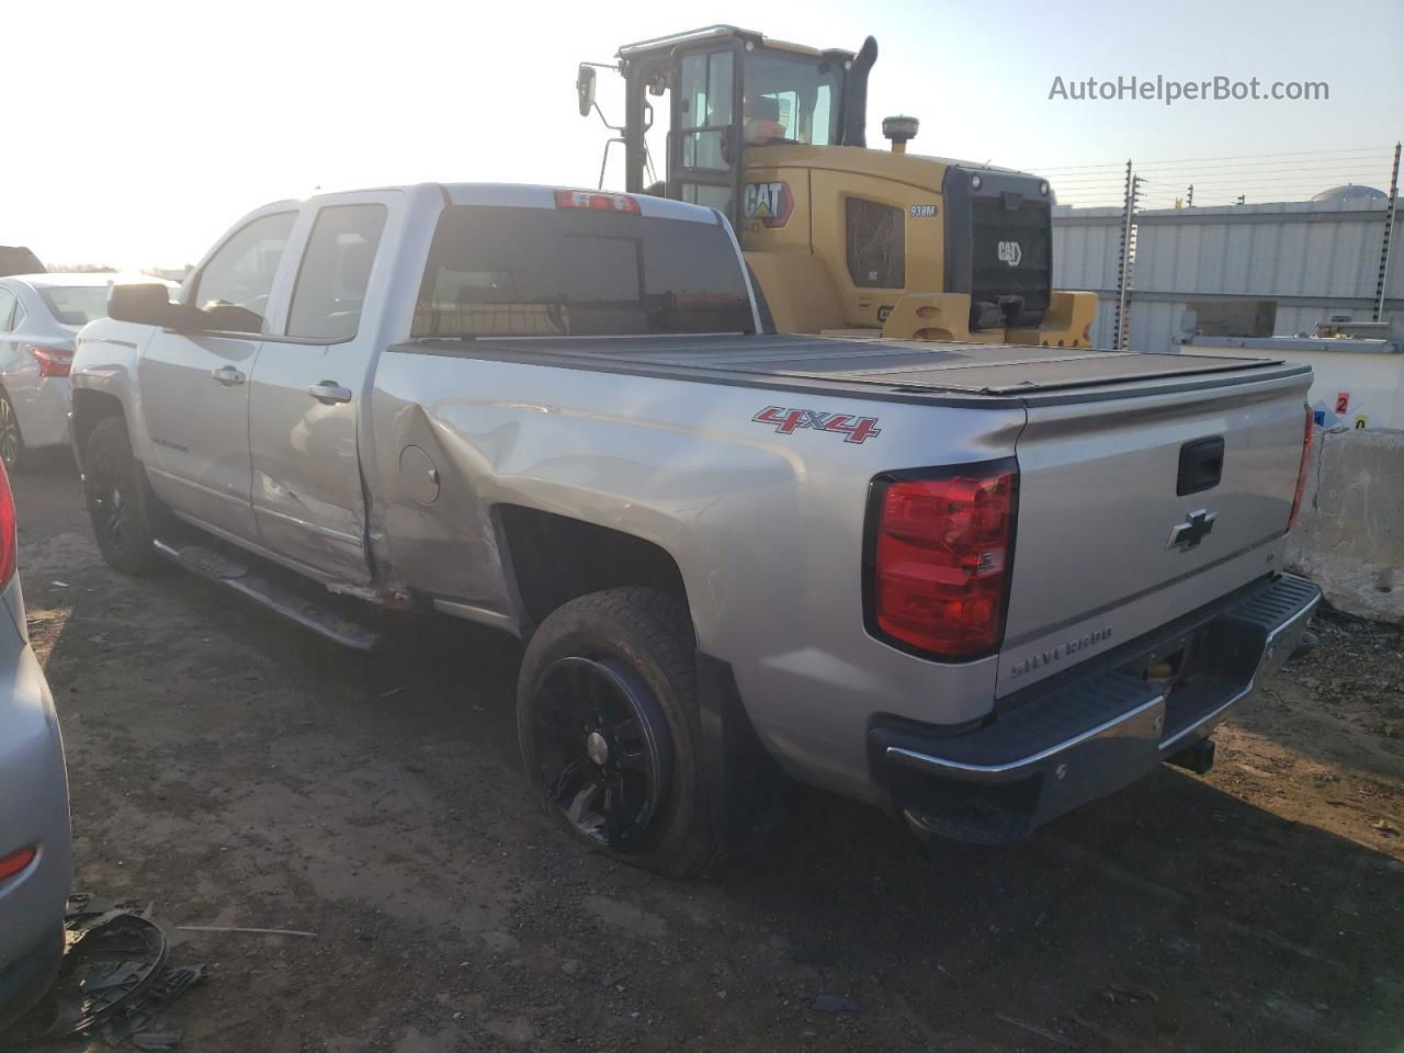
[[[69,441],[73,340],[107,317],[115,282],[157,282],[115,274],[20,274],[0,278],[0,461],[24,466],[39,446]]]

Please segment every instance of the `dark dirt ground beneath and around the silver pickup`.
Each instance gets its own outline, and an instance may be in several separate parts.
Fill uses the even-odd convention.
[[[1396,630],[1318,619],[1209,776],[1016,847],[928,856],[802,792],[767,851],[673,883],[526,800],[510,639],[411,619],[348,654],[111,573],[67,463],[14,489],[77,887],[314,934],[188,934],[211,979],[166,1014],[183,1049],[1404,1049]]]

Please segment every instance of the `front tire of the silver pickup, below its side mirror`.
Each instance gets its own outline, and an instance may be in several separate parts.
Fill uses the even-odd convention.
[[[152,542],[156,494],[132,453],[126,421],[104,417],[83,453],[83,497],[102,559],[122,574],[150,574],[161,566]]]

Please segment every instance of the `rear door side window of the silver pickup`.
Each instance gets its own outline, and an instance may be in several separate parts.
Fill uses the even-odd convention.
[[[289,337],[355,337],[385,215],[385,205],[329,205],[317,212],[292,291]]]

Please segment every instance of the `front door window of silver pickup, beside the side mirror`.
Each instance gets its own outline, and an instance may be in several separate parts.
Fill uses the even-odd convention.
[[[260,216],[236,230],[205,264],[191,300],[223,333],[263,333],[272,281],[296,212]]]

